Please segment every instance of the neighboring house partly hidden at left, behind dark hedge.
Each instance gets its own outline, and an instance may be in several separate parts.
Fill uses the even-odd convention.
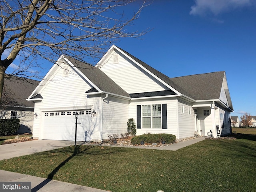
[[[2,95],[0,118],[20,119],[18,134],[32,133],[34,103],[26,98],[38,86],[39,81],[6,75]]]

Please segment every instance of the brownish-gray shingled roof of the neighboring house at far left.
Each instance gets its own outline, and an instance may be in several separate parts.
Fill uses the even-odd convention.
[[[34,103],[26,101],[40,81],[16,76],[6,76],[2,102],[8,99],[8,105],[34,108]],[[5,102],[3,103],[5,104]]]

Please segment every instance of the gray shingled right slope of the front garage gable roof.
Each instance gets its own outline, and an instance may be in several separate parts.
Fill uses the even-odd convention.
[[[92,81],[100,90],[130,97],[129,94],[123,90],[118,84],[110,79],[102,70],[96,68],[83,61],[76,60],[70,56],[65,57],[76,66],[90,81]]]

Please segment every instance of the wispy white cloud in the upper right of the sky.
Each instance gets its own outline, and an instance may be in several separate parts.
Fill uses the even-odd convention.
[[[190,15],[215,16],[223,12],[229,12],[236,8],[249,7],[256,4],[256,0],[195,0],[191,7]]]

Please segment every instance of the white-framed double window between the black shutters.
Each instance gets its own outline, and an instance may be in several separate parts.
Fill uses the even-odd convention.
[[[162,129],[162,104],[142,105],[141,113],[142,113],[141,114],[142,128]],[[146,118],[148,119],[147,121],[146,121]],[[160,118],[160,120],[159,120],[159,118]],[[147,122],[148,126],[146,126],[146,122]],[[149,124],[149,122],[150,122],[150,124]],[[156,123],[156,122],[158,122],[158,123]]]

